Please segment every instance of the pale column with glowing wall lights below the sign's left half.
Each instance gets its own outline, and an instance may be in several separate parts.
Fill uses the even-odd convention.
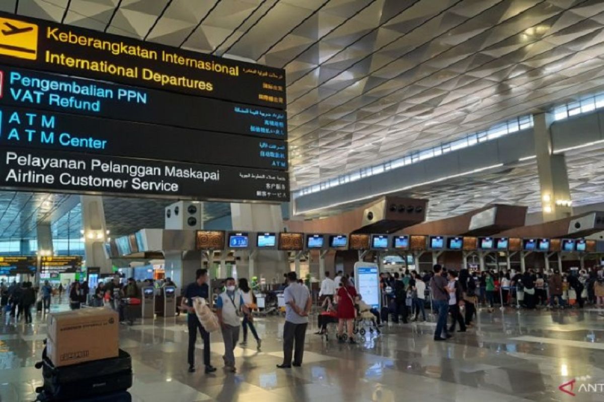
[[[107,239],[105,210],[101,196],[82,195],[82,225],[86,266],[98,266],[101,274],[111,273],[111,261],[104,250]]]

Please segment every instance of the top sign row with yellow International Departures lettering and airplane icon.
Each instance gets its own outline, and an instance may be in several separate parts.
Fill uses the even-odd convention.
[[[283,69],[0,13],[0,63],[284,110]]]

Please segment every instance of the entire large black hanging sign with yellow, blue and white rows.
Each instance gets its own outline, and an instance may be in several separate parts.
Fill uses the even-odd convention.
[[[289,201],[282,69],[0,13],[0,186]]]

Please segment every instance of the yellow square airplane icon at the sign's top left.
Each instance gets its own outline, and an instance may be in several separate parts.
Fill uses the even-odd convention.
[[[0,17],[0,55],[36,60],[36,24]]]

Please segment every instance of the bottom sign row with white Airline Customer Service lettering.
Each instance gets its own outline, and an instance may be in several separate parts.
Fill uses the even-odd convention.
[[[178,199],[289,201],[286,172],[0,147],[0,187]]]

